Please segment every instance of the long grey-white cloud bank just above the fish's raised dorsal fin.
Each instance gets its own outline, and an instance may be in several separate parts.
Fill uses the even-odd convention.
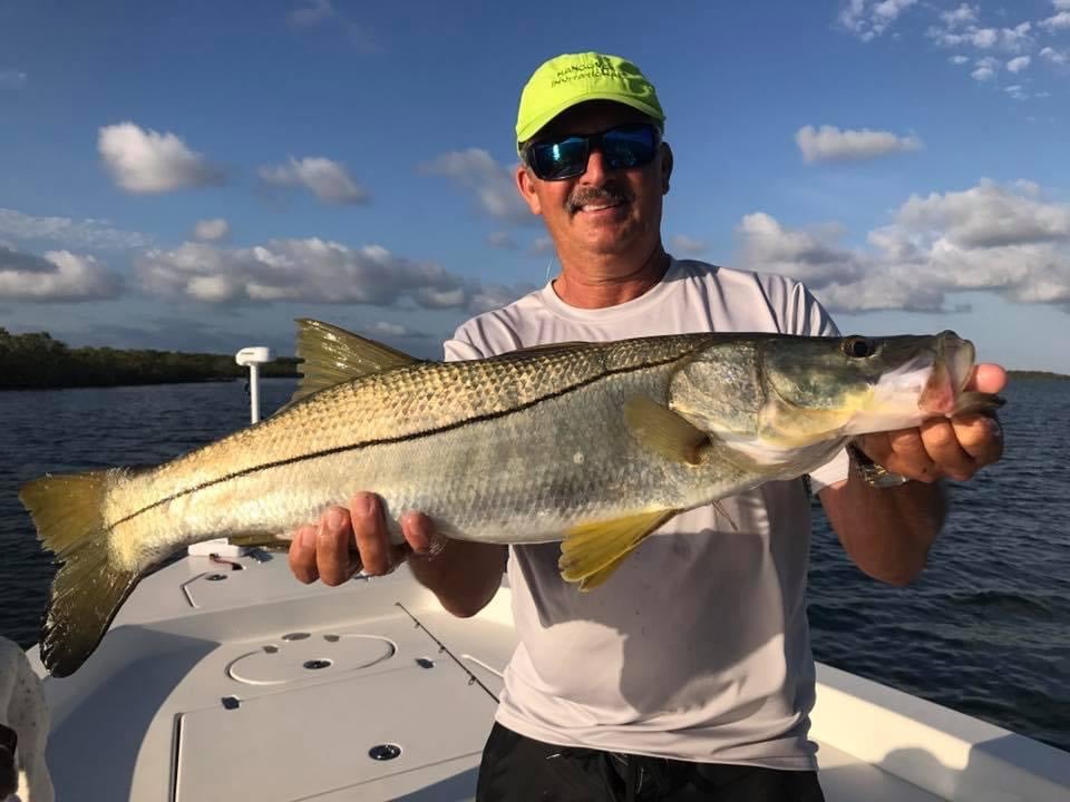
[[[135,263],[146,292],[204,303],[298,301],[483,311],[515,291],[483,285],[441,265],[395,256],[379,245],[351,248],[319,238],[273,239],[247,248],[184,243]]]

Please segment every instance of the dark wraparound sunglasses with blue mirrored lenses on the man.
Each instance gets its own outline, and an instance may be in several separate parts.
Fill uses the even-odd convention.
[[[583,175],[591,150],[599,148],[610,169],[642,167],[654,160],[661,133],[649,123],[624,125],[599,134],[551,137],[532,143],[525,157],[532,172],[543,180],[564,180]]]

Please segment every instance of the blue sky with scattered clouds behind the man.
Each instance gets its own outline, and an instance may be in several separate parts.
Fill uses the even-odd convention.
[[[513,128],[585,50],[658,89],[674,256],[1070,373],[1070,0],[0,0],[0,326],[438,358],[555,272]]]

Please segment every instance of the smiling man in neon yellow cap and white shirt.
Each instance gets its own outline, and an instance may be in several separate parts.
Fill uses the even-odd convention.
[[[542,291],[464,324],[448,359],[536,343],[694,331],[834,335],[788,278],[679,262],[661,242],[673,156],[664,114],[632,63],[561,56],[536,70],[517,118],[516,185],[543,217],[561,274]],[[1004,375],[976,376],[996,392]],[[963,417],[869,436],[856,460],[903,478],[875,487],[846,454],[811,483],[852,559],[896,585],[925,564],[942,525],[937,480],[966,479],[1001,453],[995,421]],[[879,471],[877,471],[879,472]],[[907,481],[907,480],[914,481]],[[805,612],[805,483],[769,482],[662,527],[596,593],[557,573],[557,545],[449,541],[426,558],[429,519],[409,512],[391,547],[371,495],[303,527],[291,548],[303,581],[383,574],[409,557],[446,609],[470,616],[508,573],[521,644],[484,752],[480,800],[820,800],[807,740],[814,665]],[[682,537],[680,535],[683,535]]]

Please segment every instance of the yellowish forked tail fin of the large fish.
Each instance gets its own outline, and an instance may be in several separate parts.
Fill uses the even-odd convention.
[[[103,510],[114,481],[115,471],[90,471],[41,477],[19,490],[38,539],[61,564],[41,624],[41,661],[52,676],[72,674],[93,654],[142,576],[110,548]]]

